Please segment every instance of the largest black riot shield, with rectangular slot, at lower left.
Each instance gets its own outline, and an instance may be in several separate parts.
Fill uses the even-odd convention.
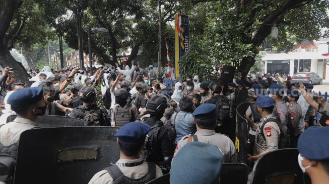
[[[21,134],[14,182],[88,183],[120,156],[117,127],[30,129]]]

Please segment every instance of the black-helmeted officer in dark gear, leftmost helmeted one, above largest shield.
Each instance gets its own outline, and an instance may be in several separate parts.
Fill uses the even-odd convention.
[[[73,109],[70,117],[84,120],[86,126],[105,126],[106,114],[97,107],[95,88],[82,87],[79,90],[78,97],[83,101],[83,105]]]

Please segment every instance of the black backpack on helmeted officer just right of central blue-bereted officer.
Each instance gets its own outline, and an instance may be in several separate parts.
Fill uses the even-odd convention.
[[[216,97],[217,119],[224,121],[230,118],[230,100],[221,95]]]

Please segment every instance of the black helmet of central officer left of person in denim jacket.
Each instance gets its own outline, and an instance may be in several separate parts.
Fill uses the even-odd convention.
[[[167,99],[159,95],[152,97],[146,104],[146,110],[150,114],[159,114],[162,116],[166,108],[167,108]]]

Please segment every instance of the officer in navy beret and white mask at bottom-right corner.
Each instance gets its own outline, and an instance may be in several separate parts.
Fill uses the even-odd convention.
[[[329,127],[310,127],[298,139],[298,164],[312,184],[329,183]]]

